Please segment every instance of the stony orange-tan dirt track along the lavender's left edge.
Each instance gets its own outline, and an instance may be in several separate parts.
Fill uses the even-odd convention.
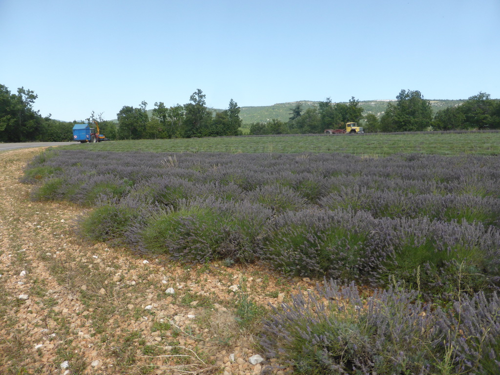
[[[81,207],[18,181],[40,150],[0,153],[0,373],[268,373],[248,361],[258,316],[307,279],[86,243]]]

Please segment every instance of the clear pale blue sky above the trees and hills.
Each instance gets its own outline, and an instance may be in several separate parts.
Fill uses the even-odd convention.
[[[61,120],[124,105],[500,98],[500,0],[0,0],[0,84]]]

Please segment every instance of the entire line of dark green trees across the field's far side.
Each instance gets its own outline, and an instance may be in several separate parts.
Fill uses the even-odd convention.
[[[80,121],[59,121],[42,117],[33,109],[38,97],[20,87],[16,93],[0,84],[0,141],[67,141],[72,139],[72,127]],[[151,116],[142,101],[138,107],[123,106],[117,121],[102,119],[102,113],[91,112],[86,122],[99,123],[100,132],[109,139],[190,138],[203,136],[240,135],[240,107],[231,99],[228,108],[214,110],[206,106],[206,95],[194,91],[183,105],[167,107],[155,102]],[[362,115],[359,100],[351,97],[347,103],[333,103],[330,98],[317,106],[302,110],[301,104],[289,108],[288,121],[272,119],[253,122],[250,134],[322,133],[325,129],[342,128],[347,122],[357,122],[365,132],[424,131],[454,129],[500,129],[500,101],[479,92],[460,105],[432,112],[430,101],[418,90],[402,89],[396,101],[389,102],[381,116]]]

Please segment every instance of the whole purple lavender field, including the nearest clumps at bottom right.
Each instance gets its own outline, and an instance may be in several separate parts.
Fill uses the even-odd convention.
[[[35,184],[33,199],[66,199],[92,208],[79,222],[87,238],[182,262],[262,262],[287,275],[390,288],[379,303],[390,307],[387,316],[404,322],[380,322],[378,307],[347,320],[378,332],[406,327],[406,341],[396,345],[382,334],[378,343],[366,341],[363,334],[374,336],[363,331],[356,336],[360,346],[346,351],[354,359],[338,352],[346,349],[342,340],[357,341],[337,342],[331,332],[310,335],[310,328],[302,327],[308,334],[300,328],[309,320],[317,329],[347,324],[345,316],[338,319],[324,306],[323,315],[313,308],[317,316],[306,318],[312,313],[306,306],[319,303],[314,298],[328,300],[321,292],[277,311],[264,346],[295,363],[297,373],[500,371],[500,341],[491,336],[500,333],[499,156],[112,151],[95,156],[88,150],[50,150],[36,157],[23,177]],[[398,298],[407,302],[397,305]],[[427,307],[436,300],[444,307],[432,312]],[[460,314],[467,308],[468,325],[462,327]],[[427,341],[411,331],[415,324]],[[455,342],[449,329],[458,325],[468,336],[456,333]],[[449,329],[430,328],[437,326]],[[294,348],[283,346],[295,342],[288,336],[293,334],[302,338]],[[300,345],[306,352],[294,351]],[[397,358],[385,358],[377,352],[381,348],[397,349]],[[412,350],[414,357],[408,356]],[[442,358],[432,353],[450,355],[440,372]],[[297,357],[308,361],[298,365]]]

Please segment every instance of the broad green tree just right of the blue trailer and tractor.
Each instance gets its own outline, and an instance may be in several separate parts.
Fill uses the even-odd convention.
[[[149,119],[146,105],[145,101],[142,101],[138,108],[125,105],[116,114],[119,139],[141,139],[146,136],[146,124]]]

